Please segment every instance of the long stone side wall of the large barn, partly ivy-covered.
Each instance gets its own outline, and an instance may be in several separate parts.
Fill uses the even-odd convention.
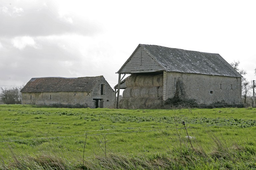
[[[241,103],[241,78],[164,71],[163,100],[173,98],[175,94],[196,99],[198,104]]]

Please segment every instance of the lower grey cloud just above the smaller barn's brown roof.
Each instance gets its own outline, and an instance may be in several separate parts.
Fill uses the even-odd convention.
[[[1,81],[15,79],[24,81],[31,77],[40,76],[72,76],[61,61],[72,62],[76,60],[74,53],[67,52],[54,44],[43,44],[41,49],[27,46],[23,50],[9,48],[0,50]]]

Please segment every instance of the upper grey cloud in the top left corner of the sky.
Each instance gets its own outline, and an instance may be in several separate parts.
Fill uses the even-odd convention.
[[[65,33],[91,36],[101,32],[96,24],[86,19],[77,16],[61,18],[51,2],[48,2],[47,6],[37,4],[34,8],[27,8],[23,4],[18,7],[10,5],[1,8],[5,11],[8,8],[9,13],[0,10],[0,36],[46,36]],[[71,18],[72,23],[68,22]]]

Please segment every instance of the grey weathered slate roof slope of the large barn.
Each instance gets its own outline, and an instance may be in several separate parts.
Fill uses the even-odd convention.
[[[242,77],[220,54],[159,45],[139,44],[139,46],[156,60],[165,71]]]

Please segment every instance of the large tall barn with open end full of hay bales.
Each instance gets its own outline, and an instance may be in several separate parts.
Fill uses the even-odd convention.
[[[139,44],[117,72],[117,108],[158,108],[169,98],[241,103],[241,75],[219,54]],[[130,74],[121,78],[121,74]]]

